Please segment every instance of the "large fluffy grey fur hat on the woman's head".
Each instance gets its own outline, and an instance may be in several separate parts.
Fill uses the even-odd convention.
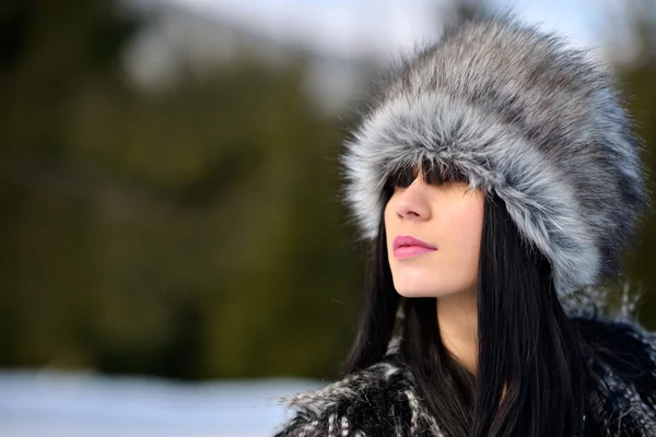
[[[562,294],[620,273],[646,205],[641,147],[584,51],[507,16],[471,21],[388,71],[345,143],[343,193],[371,239],[391,174],[457,168],[504,201]]]

